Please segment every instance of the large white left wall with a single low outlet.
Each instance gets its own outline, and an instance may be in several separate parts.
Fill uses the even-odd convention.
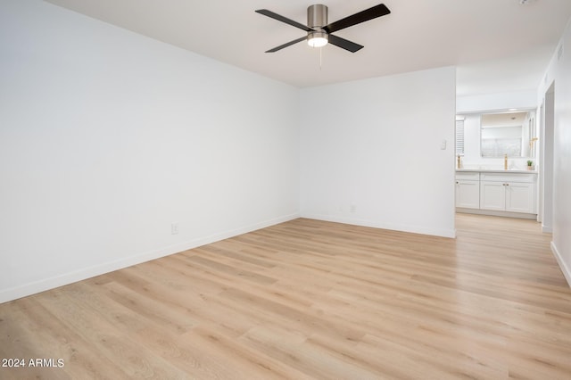
[[[298,104],[294,87],[0,0],[0,302],[297,217]]]

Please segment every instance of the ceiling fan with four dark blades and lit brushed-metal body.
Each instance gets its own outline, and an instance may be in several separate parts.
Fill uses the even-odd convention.
[[[355,44],[354,42],[346,40],[342,37],[334,36],[331,33],[334,33],[337,30],[352,27],[353,25],[360,24],[361,22],[377,19],[377,17],[385,16],[391,11],[385,6],[385,4],[378,4],[364,11],[357,12],[351,16],[347,16],[339,21],[327,24],[327,5],[313,4],[307,8],[307,26],[297,21],[290,20],[275,12],[271,12],[267,9],[258,9],[256,12],[277,21],[285,22],[286,24],[292,25],[295,28],[299,28],[307,32],[307,37],[300,37],[294,39],[293,41],[287,42],[284,45],[276,46],[273,49],[269,49],[266,53],[275,53],[284,47],[297,44],[304,39],[307,39],[308,45],[311,47],[325,46],[328,42],[332,45],[339,46],[342,49],[355,53],[358,50],[362,49],[363,45]]]

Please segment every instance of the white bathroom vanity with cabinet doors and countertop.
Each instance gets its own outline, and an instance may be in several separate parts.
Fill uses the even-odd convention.
[[[537,219],[537,172],[456,170],[456,211]]]

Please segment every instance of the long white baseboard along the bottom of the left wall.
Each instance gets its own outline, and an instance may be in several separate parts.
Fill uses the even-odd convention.
[[[0,290],[0,303],[9,302],[35,293],[45,292],[46,290],[54,289],[59,286],[69,285],[81,280],[85,280],[87,278],[100,276],[114,270],[131,267],[145,261],[159,259],[161,257],[190,250],[201,245],[218,242],[220,240],[228,239],[229,237],[236,235],[243,235],[257,229],[274,226],[278,223],[283,223],[285,221],[297,219],[299,217],[300,216],[298,213],[285,215],[283,217],[255,223],[250,226],[239,227],[236,229],[220,232],[218,234],[203,236],[181,244],[173,244],[159,250],[141,252],[128,258],[104,262],[89,268],[81,268],[79,270],[65,273],[60,276],[45,278],[28,284],[18,285],[8,289],[2,289]]]

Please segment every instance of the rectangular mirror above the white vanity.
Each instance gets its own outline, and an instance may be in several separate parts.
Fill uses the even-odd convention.
[[[535,157],[535,112],[483,113],[480,129],[483,158]]]

